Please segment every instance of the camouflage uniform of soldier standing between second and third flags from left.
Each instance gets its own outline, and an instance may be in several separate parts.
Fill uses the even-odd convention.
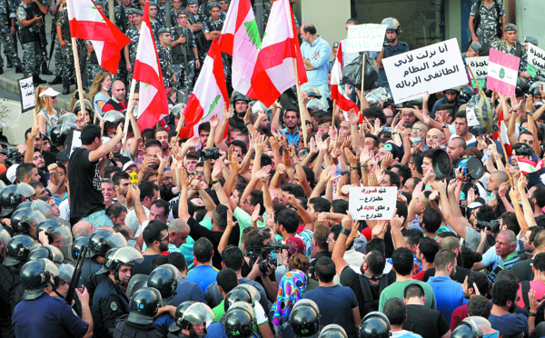
[[[193,78],[195,76],[193,48],[197,47],[193,32],[191,29],[175,26],[171,28],[171,35],[173,41],[179,39],[180,36],[185,36],[185,44],[173,46],[173,72],[177,80],[176,88],[187,89],[191,93],[193,91]],[[187,66],[184,65],[185,63],[187,63]]]

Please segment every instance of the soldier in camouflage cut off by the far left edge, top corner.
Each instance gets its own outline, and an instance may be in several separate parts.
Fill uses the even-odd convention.
[[[17,56],[14,40],[15,11],[17,7],[14,0],[0,0],[0,42],[4,44],[4,53],[8,64],[15,65],[16,73],[23,73],[21,60]],[[4,73],[4,59],[0,56],[0,74]]]

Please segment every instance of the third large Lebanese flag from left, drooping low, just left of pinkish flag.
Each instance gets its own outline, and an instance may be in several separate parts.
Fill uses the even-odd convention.
[[[201,74],[197,78],[193,93],[189,96],[187,106],[183,112],[185,126],[180,130],[180,137],[198,135],[199,124],[210,121],[214,114],[218,115],[221,123],[223,121],[223,109],[229,107],[227,98],[222,52],[218,40],[213,39],[204,59]],[[224,137],[227,137],[227,125],[223,133]]]

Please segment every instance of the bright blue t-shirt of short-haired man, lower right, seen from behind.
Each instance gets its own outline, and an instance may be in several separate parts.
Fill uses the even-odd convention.
[[[452,312],[459,306],[468,303],[463,295],[461,283],[452,281],[451,277],[430,277],[428,284],[435,293],[437,310],[441,312],[449,326],[451,326]]]

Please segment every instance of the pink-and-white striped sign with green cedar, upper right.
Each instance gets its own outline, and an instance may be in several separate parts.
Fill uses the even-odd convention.
[[[508,97],[514,96],[519,64],[520,57],[490,49],[486,87]]]

